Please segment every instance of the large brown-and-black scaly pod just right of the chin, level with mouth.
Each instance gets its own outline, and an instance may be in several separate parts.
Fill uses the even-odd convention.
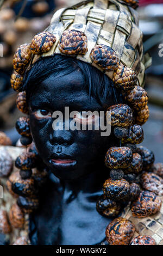
[[[112,147],[105,155],[106,167],[121,169],[130,166],[133,159],[132,151],[127,147]]]

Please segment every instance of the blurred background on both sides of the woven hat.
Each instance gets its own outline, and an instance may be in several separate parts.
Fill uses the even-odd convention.
[[[10,88],[12,58],[16,48],[30,42],[36,33],[42,32],[55,10],[71,6],[80,0],[0,0],[0,131],[4,131],[15,144],[19,138],[14,126],[22,116],[15,105],[16,95]],[[155,153],[156,162],[163,160],[163,0],[140,0],[138,9],[140,28],[144,34],[145,52],[153,58],[146,71],[145,88],[149,96],[151,112],[143,126],[143,145]]]

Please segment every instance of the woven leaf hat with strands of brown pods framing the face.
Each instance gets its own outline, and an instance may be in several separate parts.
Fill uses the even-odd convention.
[[[154,164],[151,150],[136,146],[143,141],[142,125],[149,117],[148,95],[143,84],[145,69],[151,64],[148,54],[143,55],[142,32],[137,27],[136,7],[135,0],[88,0],[72,8],[58,10],[52,17],[51,25],[44,32],[35,35],[31,44],[18,47],[11,76],[11,87],[20,92],[17,96],[17,107],[26,114],[28,106],[26,92],[22,92],[23,75],[40,57],[53,54],[76,57],[101,70],[121,90],[128,105],[117,102],[106,113],[106,120],[115,127],[114,135],[120,139],[120,147],[108,149],[105,155],[110,178],[103,185],[104,194],[99,198],[96,207],[99,214],[116,217],[120,214],[120,202],[123,201],[131,202],[131,211],[127,208],[121,217],[106,227],[106,243],[110,245],[162,243],[159,192],[163,166]],[[25,146],[31,144],[29,118],[18,119],[16,128],[22,136],[21,143]],[[34,179],[40,175],[42,182],[46,176],[43,170],[39,174],[33,174],[32,169],[37,164],[37,153],[32,146],[17,157],[15,165],[20,173],[11,174],[8,190],[20,197],[17,200],[18,206],[12,208],[9,215],[15,216],[18,210],[29,214],[37,208],[35,194],[40,185],[35,187]],[[149,218],[152,215],[156,216],[154,221],[158,222],[157,228],[151,230],[148,225],[142,233],[135,218],[146,218],[148,222],[153,221]],[[136,223],[135,226],[132,222]],[[137,235],[141,236],[131,241]]]

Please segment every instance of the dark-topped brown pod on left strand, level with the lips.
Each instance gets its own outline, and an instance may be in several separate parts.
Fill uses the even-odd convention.
[[[17,157],[15,166],[18,169],[29,170],[36,167],[36,157],[33,153],[24,152]]]

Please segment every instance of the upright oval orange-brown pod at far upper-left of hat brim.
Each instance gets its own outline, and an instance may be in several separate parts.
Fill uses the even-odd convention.
[[[31,57],[32,52],[30,50],[30,44],[24,44],[18,47],[13,59],[14,70],[18,74],[23,75]]]

